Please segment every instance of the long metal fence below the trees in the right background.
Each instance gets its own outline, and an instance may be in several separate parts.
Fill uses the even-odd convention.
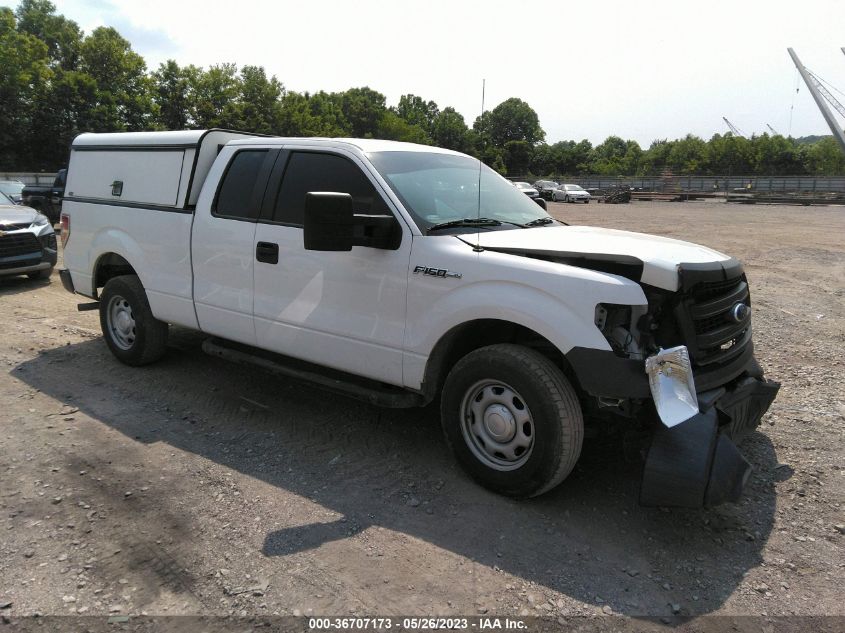
[[[612,189],[624,185],[643,191],[667,193],[737,189],[765,193],[845,193],[845,176],[555,176],[553,180],[578,184],[585,189]]]

